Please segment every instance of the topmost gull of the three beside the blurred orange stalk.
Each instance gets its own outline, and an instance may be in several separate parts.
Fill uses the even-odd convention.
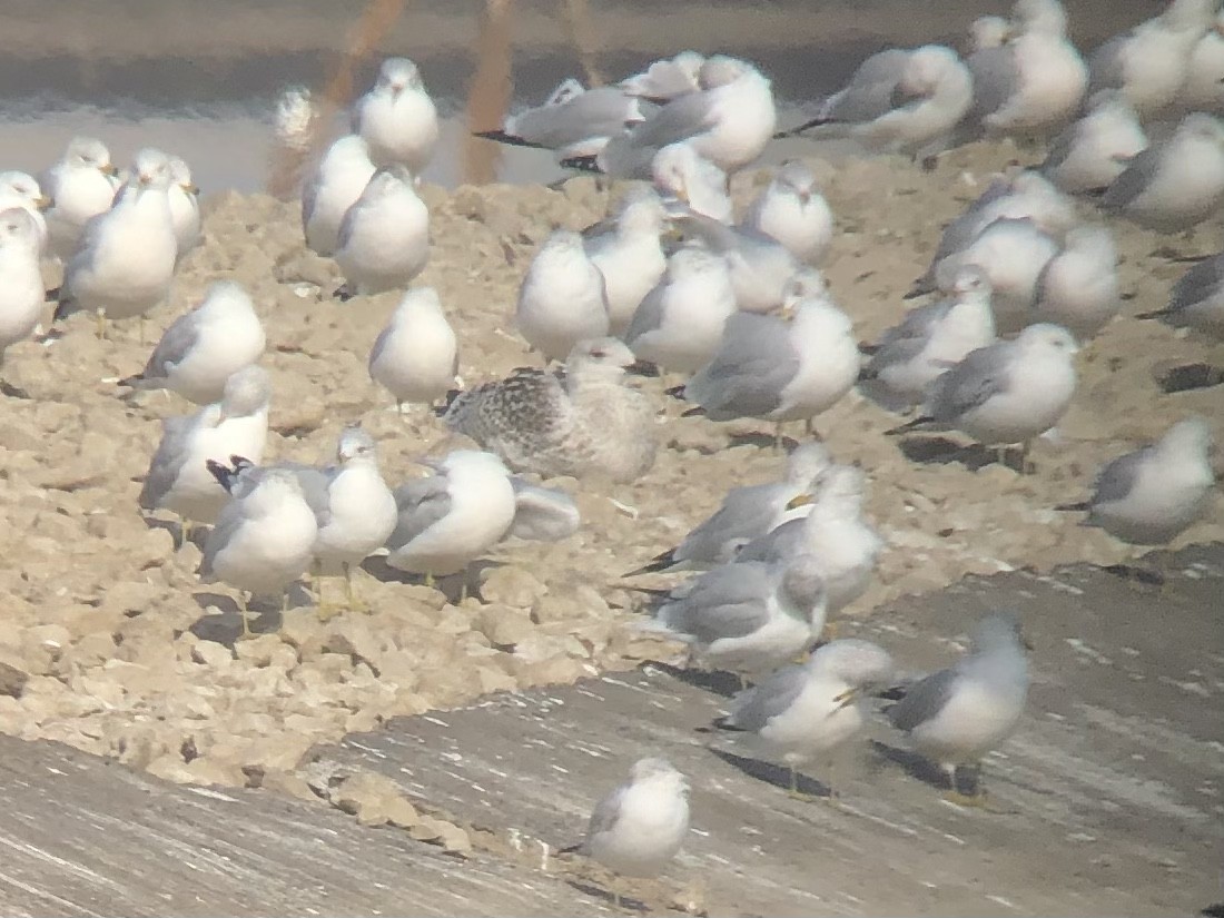
[[[353,132],[376,165],[401,164],[420,175],[438,142],[438,111],[421,72],[408,58],[387,58],[378,81],[353,106]]]

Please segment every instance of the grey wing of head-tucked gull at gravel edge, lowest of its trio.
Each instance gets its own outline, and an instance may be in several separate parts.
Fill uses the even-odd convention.
[[[743,638],[769,621],[766,600],[774,590],[769,564],[726,564],[685,584],[687,595],[659,611],[673,630],[701,644],[720,638]]]

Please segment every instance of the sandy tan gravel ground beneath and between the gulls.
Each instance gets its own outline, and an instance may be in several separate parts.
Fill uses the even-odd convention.
[[[941,225],[990,170],[1015,158],[1010,147],[968,148],[933,173],[895,159],[814,163],[837,214],[830,285],[863,340],[901,315],[901,294],[925,267]],[[764,177],[741,176],[738,198]],[[428,187],[425,195],[433,255],[421,282],[439,290],[459,332],[464,379],[530,361],[509,329],[519,278],[551,228],[594,222],[607,196],[588,179],[563,191]],[[1115,228],[1124,311],[1163,305],[1185,266],[1152,255],[1169,240]],[[448,438],[425,411],[395,416],[366,376],[370,344],[398,296],[333,301],[339,278],[329,261],[305,252],[295,204],[222,195],[209,202],[206,233],[173,302],[151,317],[147,344],[136,324],[99,341],[91,319],[78,317],[51,346],[31,341],[9,351],[5,378],[31,398],[6,398],[0,411],[0,731],[60,739],[176,781],[240,785],[286,775],[313,743],[390,716],[671,652],[624,627],[640,599],[621,588],[619,574],[673,545],[727,487],[776,476],[783,460],[761,438],[742,436],[764,426],[679,420],[682,406],[665,399],[661,381],[646,383],[666,415],[667,446],[654,470],[610,488],[563,480],[581,508],[581,531],[557,545],[503,546],[479,575],[485,602],[455,606],[425,586],[364,575],[372,614],[319,624],[299,596],[279,635],[269,610],[258,628],[271,633],[235,645],[233,596],[202,586],[197,547],[175,552],[170,530],[148,525],[136,504],[159,420],[191,406],[162,393],[125,401],[114,384],[143,365],[175,315],[218,277],[251,289],[268,328],[264,364],[275,392],[269,458],[323,460],[340,427],[360,417],[398,483],[419,474],[414,457],[444,450]],[[1209,225],[1173,245],[1206,253],[1218,239],[1219,226]],[[896,416],[857,395],[845,399],[819,426],[840,460],[870,472],[869,510],[890,545],[879,583],[849,613],[967,573],[1131,557],[1051,508],[1082,499],[1100,463],[1191,411],[1224,438],[1219,387],[1165,394],[1158,383],[1169,368],[1213,357],[1218,364],[1219,349],[1163,326],[1116,321],[1082,355],[1081,389],[1058,442],[1039,443],[1038,474],[1026,477],[980,449],[912,461],[881,436]],[[638,508],[638,519],[608,498]],[[1175,546],[1219,540],[1217,502]]]

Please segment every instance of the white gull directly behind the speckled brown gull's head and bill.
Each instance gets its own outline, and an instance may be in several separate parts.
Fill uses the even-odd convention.
[[[705,366],[736,312],[727,263],[701,246],[684,246],[633,313],[624,343],[639,360],[677,373]]]

